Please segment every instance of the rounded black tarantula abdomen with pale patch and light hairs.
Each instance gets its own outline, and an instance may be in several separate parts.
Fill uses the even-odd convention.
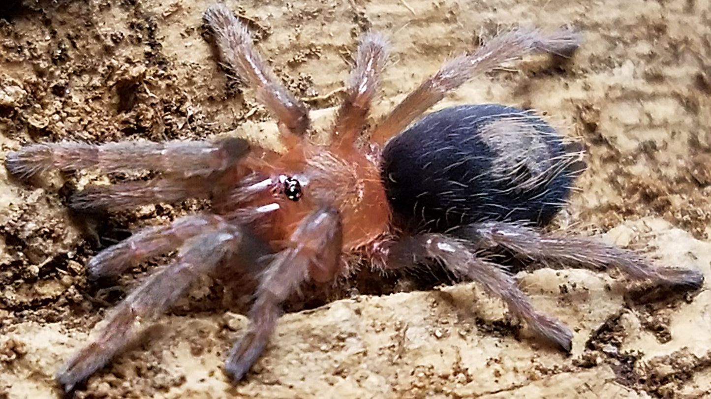
[[[545,225],[567,199],[576,160],[532,112],[463,105],[433,112],[387,142],[381,173],[393,214],[409,228]]]

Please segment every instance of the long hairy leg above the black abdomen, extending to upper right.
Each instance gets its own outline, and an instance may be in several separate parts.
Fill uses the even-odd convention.
[[[447,92],[476,75],[530,53],[545,51],[569,54],[579,46],[581,40],[579,34],[573,31],[559,31],[552,36],[543,36],[538,31],[520,29],[496,36],[473,54],[459,55],[444,64],[438,73],[419,85],[380,122],[370,140],[383,145],[387,139],[405,130],[422,112],[442,100]]]

